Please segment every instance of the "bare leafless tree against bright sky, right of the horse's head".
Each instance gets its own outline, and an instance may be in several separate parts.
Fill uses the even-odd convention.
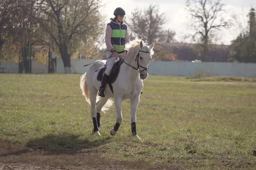
[[[221,0],[186,0],[186,10],[189,12],[190,26],[195,30],[192,39],[198,41],[197,46],[203,49],[204,61],[207,61],[209,44],[216,31],[230,28],[231,20],[224,18],[226,11]]]

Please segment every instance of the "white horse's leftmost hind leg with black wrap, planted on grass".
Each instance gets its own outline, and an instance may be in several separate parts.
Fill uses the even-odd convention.
[[[97,123],[97,111],[96,111],[96,99],[97,99],[97,89],[90,89],[90,104],[91,104],[91,116],[93,119],[93,133],[95,133],[96,136],[100,136],[99,133],[99,127],[98,127],[98,123]]]

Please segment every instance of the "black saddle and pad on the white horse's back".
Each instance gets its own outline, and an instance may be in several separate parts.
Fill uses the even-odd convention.
[[[125,58],[119,59],[117,62],[114,63],[113,67],[111,68],[110,71],[110,78],[108,80],[108,85],[113,93],[113,86],[111,85],[112,83],[114,83],[119,75],[119,71],[120,71],[120,65],[122,65],[122,63],[125,61]],[[105,73],[106,70],[106,65],[104,65],[103,68],[99,68],[98,70],[96,70],[95,72],[99,71],[98,75],[97,75],[97,80],[98,81],[102,81],[102,77],[103,74]]]

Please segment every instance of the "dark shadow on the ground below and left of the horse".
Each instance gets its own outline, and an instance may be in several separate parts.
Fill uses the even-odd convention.
[[[43,138],[30,140],[27,142],[26,146],[48,151],[49,154],[72,154],[97,151],[96,147],[108,143],[109,139],[111,139],[111,137],[89,141],[88,139],[79,139],[77,135],[48,135]]]

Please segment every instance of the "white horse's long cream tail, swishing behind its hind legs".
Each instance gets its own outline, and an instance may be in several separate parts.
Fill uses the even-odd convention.
[[[86,102],[90,104],[90,93],[89,93],[88,85],[86,82],[86,73],[80,79],[80,88],[82,90],[82,94],[84,95]],[[98,105],[102,101],[102,97],[97,96],[96,101],[97,101],[96,105]],[[105,111],[107,111],[112,105],[113,105],[113,100],[108,99],[106,104],[102,107],[102,111],[106,113]]]

